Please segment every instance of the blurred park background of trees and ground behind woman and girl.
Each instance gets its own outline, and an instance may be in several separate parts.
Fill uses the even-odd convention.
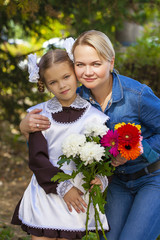
[[[19,123],[49,96],[28,82],[27,55],[40,57],[91,29],[113,42],[120,74],[160,97],[160,0],[0,0],[0,240],[30,239],[10,225],[31,176]]]

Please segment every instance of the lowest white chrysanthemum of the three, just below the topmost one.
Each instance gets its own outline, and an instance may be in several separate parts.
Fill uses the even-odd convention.
[[[86,142],[83,147],[81,147],[80,158],[85,165],[91,164],[94,160],[99,162],[104,156],[105,149],[101,145],[95,142]]]

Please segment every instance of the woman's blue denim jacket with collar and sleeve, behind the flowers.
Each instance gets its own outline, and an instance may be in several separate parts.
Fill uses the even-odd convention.
[[[77,89],[84,99],[101,110],[85,86]],[[104,111],[110,117],[107,126],[114,129],[115,124],[135,123],[141,125],[143,154],[116,168],[116,172],[128,174],[139,171],[160,159],[160,99],[145,84],[113,73],[112,98]]]

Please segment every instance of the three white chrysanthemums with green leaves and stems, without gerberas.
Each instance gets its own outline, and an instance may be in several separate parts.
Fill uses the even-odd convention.
[[[89,221],[89,209],[91,202],[93,203],[95,210],[95,227],[96,227],[96,239],[99,239],[98,234],[98,222],[101,226],[101,230],[105,239],[105,233],[103,225],[100,221],[99,210],[104,214],[105,194],[102,193],[99,185],[94,185],[91,188],[90,182],[98,175],[111,176],[114,171],[114,167],[110,164],[110,159],[114,156],[109,152],[110,148],[106,148],[101,145],[101,138],[106,134],[108,128],[101,122],[90,122],[85,126],[83,134],[74,133],[69,135],[62,144],[63,155],[59,157],[58,164],[60,168],[64,163],[70,163],[73,161],[76,165],[76,170],[73,170],[72,174],[66,174],[59,172],[52,178],[52,181],[65,181],[74,179],[78,173],[82,173],[84,184],[82,185],[86,193],[89,193],[89,203],[86,211],[86,235],[83,239],[90,239],[88,232]]]

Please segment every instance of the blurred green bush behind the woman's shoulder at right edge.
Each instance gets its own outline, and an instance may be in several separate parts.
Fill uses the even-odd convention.
[[[115,67],[120,74],[149,85],[160,97],[160,33],[157,28],[149,30],[150,27],[136,45],[117,53]]]

